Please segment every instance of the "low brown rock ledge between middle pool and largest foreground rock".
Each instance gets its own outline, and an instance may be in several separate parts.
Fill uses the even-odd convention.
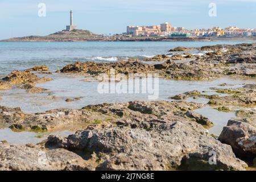
[[[77,129],[88,125],[125,123],[150,129],[151,123],[162,120],[188,119],[185,112],[203,105],[189,102],[134,101],[117,104],[90,105],[80,110],[55,109],[44,113],[24,114],[19,108],[0,107],[1,125],[19,123],[26,131]],[[141,122],[138,122],[141,121]],[[193,121],[194,122],[194,121]]]

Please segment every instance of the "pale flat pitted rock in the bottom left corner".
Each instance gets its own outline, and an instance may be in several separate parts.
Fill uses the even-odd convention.
[[[37,171],[37,170],[86,170],[84,160],[77,154],[64,150],[39,150],[27,146],[15,146],[0,142],[1,171]]]

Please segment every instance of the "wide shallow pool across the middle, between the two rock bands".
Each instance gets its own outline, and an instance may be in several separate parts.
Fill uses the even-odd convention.
[[[12,90],[0,91],[2,100],[0,105],[9,107],[21,107],[24,113],[38,113],[57,108],[81,109],[86,105],[102,104],[104,102],[127,102],[132,100],[148,100],[148,94],[100,94],[97,92],[98,82],[81,81],[85,77],[75,75],[65,75],[54,73],[51,76],[53,81],[37,84],[41,88],[48,89],[49,92],[31,94],[23,89],[15,88]],[[218,86],[228,82],[233,86]],[[237,88],[245,83],[255,83],[255,80],[219,78],[213,81],[177,81],[159,79],[158,100],[170,100],[168,97],[175,96],[184,92],[199,90],[208,91],[206,94],[217,94],[210,90],[210,87]],[[224,96],[221,94],[220,96]],[[79,101],[65,102],[67,98],[81,97]],[[205,104],[206,100],[202,102]],[[189,100],[193,101],[193,100]]]

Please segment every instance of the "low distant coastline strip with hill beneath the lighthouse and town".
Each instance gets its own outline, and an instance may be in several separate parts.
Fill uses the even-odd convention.
[[[88,30],[72,30],[72,31],[59,31],[47,36],[24,36],[20,38],[10,38],[0,40],[0,42],[218,42],[218,41],[255,41],[256,38],[250,37],[225,37],[225,36],[211,36],[211,37],[167,37],[167,36],[127,36],[127,35],[113,35],[103,36],[93,34]]]

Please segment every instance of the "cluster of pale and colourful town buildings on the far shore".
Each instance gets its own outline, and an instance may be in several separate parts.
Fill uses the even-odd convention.
[[[171,23],[162,23],[154,26],[127,26],[126,33],[133,36],[256,36],[256,28],[213,27],[208,29],[187,30],[184,27],[172,27]]]

